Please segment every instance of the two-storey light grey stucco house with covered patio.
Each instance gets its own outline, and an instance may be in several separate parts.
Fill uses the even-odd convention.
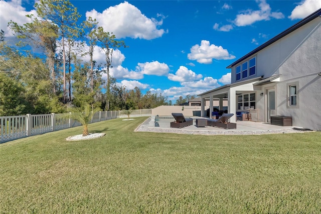
[[[231,65],[231,84],[201,96],[228,97],[228,112],[250,111],[252,119],[292,117],[292,125],[321,130],[321,9],[241,57]]]

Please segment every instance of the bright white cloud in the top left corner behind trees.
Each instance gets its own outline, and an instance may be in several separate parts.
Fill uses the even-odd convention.
[[[8,27],[10,21],[16,22],[18,25],[31,22],[26,15],[36,14],[35,10],[27,12],[25,8],[21,6],[22,1],[13,0],[11,2],[0,1],[0,29],[5,31],[6,37],[13,37],[13,32]]]

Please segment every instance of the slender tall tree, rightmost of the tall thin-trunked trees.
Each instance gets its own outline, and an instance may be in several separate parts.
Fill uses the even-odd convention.
[[[115,35],[109,32],[105,32],[102,27],[97,28],[98,41],[101,44],[101,50],[105,53],[106,59],[106,70],[107,82],[106,82],[106,111],[109,111],[109,100],[110,95],[110,75],[109,68],[111,68],[112,63],[112,53],[114,48],[126,47],[124,41],[117,41]]]

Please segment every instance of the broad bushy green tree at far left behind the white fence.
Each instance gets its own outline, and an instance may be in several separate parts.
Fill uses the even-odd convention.
[[[2,97],[6,102],[12,99],[6,98],[9,93],[17,97],[12,101],[21,106],[19,111],[15,110],[17,114],[48,114],[53,113],[53,109],[57,110],[53,108],[59,104],[55,103],[57,99],[52,92],[49,70],[39,57],[0,43],[0,73],[4,84],[1,86],[4,87]],[[17,89],[13,90],[12,87]]]

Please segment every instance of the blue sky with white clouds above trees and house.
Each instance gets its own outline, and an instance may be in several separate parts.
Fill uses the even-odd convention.
[[[95,18],[128,48],[114,50],[111,75],[127,89],[162,93],[174,102],[230,83],[228,65],[321,8],[305,1],[89,1],[71,3],[81,21]],[[10,20],[28,21],[35,1],[0,1]],[[86,60],[86,59],[84,59]],[[104,63],[99,47],[94,60]]]

